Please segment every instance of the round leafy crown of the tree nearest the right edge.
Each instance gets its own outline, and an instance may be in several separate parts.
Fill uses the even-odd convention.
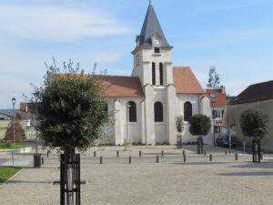
[[[268,116],[258,109],[247,109],[240,116],[244,136],[263,138],[268,134]]]

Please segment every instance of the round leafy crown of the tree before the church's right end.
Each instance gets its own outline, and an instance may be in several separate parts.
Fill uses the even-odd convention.
[[[189,124],[189,132],[194,136],[207,135],[211,128],[210,118],[201,114],[193,116]]]

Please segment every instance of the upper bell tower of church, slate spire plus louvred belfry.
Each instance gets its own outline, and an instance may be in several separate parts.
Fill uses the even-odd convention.
[[[134,69],[132,76],[139,77],[142,86],[167,87],[173,84],[172,46],[159,24],[153,5],[148,5],[147,15],[139,36],[136,36]]]

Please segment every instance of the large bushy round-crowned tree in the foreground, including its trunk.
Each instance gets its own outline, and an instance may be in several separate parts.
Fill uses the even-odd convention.
[[[76,151],[95,145],[106,123],[106,101],[100,97],[100,83],[95,76],[85,75],[71,60],[64,69],[47,67],[43,87],[35,87],[37,130],[45,147],[57,149],[71,162]],[[72,164],[67,164],[67,190],[73,190]],[[66,204],[74,204],[72,192]]]

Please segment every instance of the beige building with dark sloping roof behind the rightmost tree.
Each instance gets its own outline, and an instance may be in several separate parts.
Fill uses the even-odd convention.
[[[238,97],[230,102],[230,125],[232,135],[236,137],[239,144],[246,142],[251,147],[251,139],[244,137],[239,124],[240,115],[248,108],[259,109],[269,118],[269,131],[261,140],[261,149],[273,152],[273,80],[262,82],[247,87]]]

